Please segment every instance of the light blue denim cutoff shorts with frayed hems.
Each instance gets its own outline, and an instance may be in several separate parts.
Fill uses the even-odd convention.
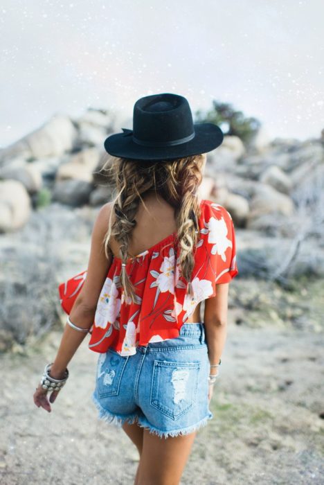
[[[92,400],[98,418],[121,427],[134,423],[160,437],[196,431],[209,409],[208,347],[204,324],[183,324],[180,335],[138,346],[122,356],[99,355]]]

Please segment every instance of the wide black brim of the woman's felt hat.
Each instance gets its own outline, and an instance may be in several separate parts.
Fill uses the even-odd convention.
[[[138,145],[132,140],[132,136],[125,136],[125,133],[111,134],[105,140],[105,150],[114,157],[123,157],[135,160],[172,160],[200,155],[211,152],[221,145],[224,134],[219,126],[213,123],[197,123],[195,137],[181,143],[181,145],[149,147]]]

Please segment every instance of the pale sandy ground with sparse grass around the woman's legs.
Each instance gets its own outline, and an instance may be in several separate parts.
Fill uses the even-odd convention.
[[[132,484],[137,450],[91,402],[97,354],[87,337],[53,411],[34,405],[59,342],[53,332],[27,355],[1,357],[1,484]],[[215,417],[199,430],[181,484],[323,484],[323,360],[322,333],[228,324]]]

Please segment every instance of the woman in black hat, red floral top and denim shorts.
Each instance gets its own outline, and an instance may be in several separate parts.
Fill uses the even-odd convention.
[[[223,141],[219,127],[194,125],[175,94],[136,101],[133,123],[105,141],[116,194],[96,218],[87,270],[59,287],[69,317],[34,401],[51,411],[90,332],[99,418],[138,448],[135,484],[172,485],[213,418],[228,283],[238,273],[235,230],[223,206],[199,197],[206,152]]]

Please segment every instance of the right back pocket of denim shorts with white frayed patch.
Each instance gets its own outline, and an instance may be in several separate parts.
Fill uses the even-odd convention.
[[[200,362],[154,360],[150,404],[176,420],[197,401]]]

